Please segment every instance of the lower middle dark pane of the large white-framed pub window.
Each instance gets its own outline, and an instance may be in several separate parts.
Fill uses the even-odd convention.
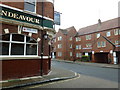
[[[11,55],[24,55],[24,44],[11,44]]]

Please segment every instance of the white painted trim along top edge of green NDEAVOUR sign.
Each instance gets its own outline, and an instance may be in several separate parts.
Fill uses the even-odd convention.
[[[17,11],[20,11],[20,12],[24,12],[24,13],[30,12],[30,11],[26,12],[26,10],[21,10],[21,9],[18,9],[18,8],[15,8],[15,7],[11,7],[11,6],[8,6],[8,5],[4,5],[4,4],[0,4],[0,6],[7,7],[7,8],[10,8],[10,9],[13,9],[13,10],[17,10]],[[31,15],[34,14],[34,16],[42,17],[42,15],[36,14],[35,12],[30,12],[30,13],[27,13],[27,14],[31,14]],[[47,20],[54,21],[54,19],[46,17],[46,16],[43,16],[43,18],[45,18]]]

